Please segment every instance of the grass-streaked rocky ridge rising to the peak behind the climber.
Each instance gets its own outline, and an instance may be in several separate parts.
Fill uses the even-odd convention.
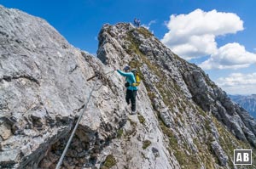
[[[233,135],[255,147],[253,117],[233,104],[203,70],[173,54],[148,30],[129,24],[104,25],[99,37],[97,55],[104,64],[129,64],[141,71],[154,111],[165,124],[161,128],[169,138],[169,148],[181,158],[179,163],[186,164],[193,154],[201,161],[206,161],[206,156],[212,161],[213,154],[220,166],[236,167],[231,162],[233,149],[241,144],[235,144]],[[227,137],[230,132],[233,135]],[[185,147],[192,155],[180,153]],[[183,167],[200,168],[201,161],[195,161]]]

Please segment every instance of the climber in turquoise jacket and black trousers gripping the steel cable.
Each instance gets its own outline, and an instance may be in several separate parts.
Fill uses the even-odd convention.
[[[131,101],[131,115],[136,114],[136,96],[137,96],[137,86],[133,86],[132,84],[136,83],[136,78],[134,74],[131,72],[131,67],[129,65],[126,65],[124,68],[124,71],[117,70],[121,76],[125,76],[125,87],[127,87],[126,90],[126,96],[125,100],[126,103],[129,105]]]

